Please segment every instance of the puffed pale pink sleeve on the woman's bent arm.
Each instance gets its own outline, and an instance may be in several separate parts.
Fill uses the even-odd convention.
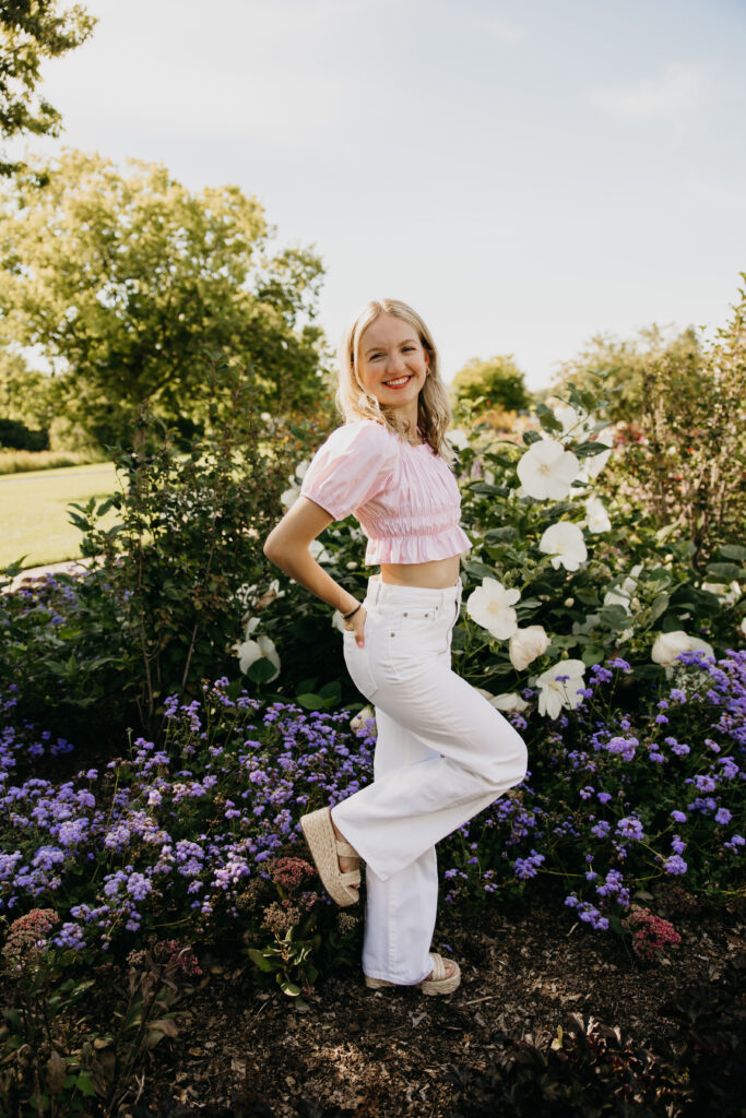
[[[398,461],[397,437],[372,419],[333,430],[305,471],[301,496],[321,505],[334,520],[381,493]]]

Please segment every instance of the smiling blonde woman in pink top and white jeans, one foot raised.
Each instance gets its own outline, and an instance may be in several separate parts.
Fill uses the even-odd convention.
[[[459,965],[431,954],[435,843],[526,775],[522,738],[451,669],[461,606],[459,486],[445,442],[451,419],[437,353],[406,303],[369,303],[339,351],[346,424],[309,466],[301,495],[265,555],[344,618],[344,661],[375,703],[374,783],[301,819],[324,888],[358,899],[366,863],[366,984],[448,994]],[[309,544],[351,512],[380,565],[363,603],[311,557]]]

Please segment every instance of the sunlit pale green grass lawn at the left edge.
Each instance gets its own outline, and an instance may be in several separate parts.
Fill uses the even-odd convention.
[[[0,477],[0,567],[21,556],[26,556],[25,567],[78,559],[81,533],[67,522],[66,505],[115,490],[111,462]],[[112,510],[105,523],[115,518]]]

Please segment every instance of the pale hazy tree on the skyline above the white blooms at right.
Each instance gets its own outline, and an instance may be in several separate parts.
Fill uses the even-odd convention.
[[[566,396],[570,385],[593,390],[594,373],[603,373],[608,418],[614,423],[631,421],[645,408],[645,369],[651,361],[663,359],[679,367],[689,389],[698,390],[705,357],[697,332],[689,326],[673,338],[669,332],[667,338],[665,331],[653,323],[634,339],[594,334],[577,357],[561,363],[551,387],[537,396]]]

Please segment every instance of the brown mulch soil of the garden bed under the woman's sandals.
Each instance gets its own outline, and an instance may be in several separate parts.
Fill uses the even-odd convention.
[[[344,969],[320,980],[306,1007],[298,1007],[278,989],[257,985],[249,966],[224,968],[204,957],[206,977],[179,1040],[151,1053],[138,1103],[123,1114],[448,1118],[468,1109],[448,1074],[456,1081],[464,1072],[479,1076],[507,1039],[556,1034],[558,1025],[572,1027],[573,1013],[618,1025],[670,1061],[663,1038],[682,1026],[667,1003],[743,960],[746,911],[743,902],[697,906],[681,892],[676,903],[661,900],[654,907],[672,920],[681,945],[657,965],[640,963],[611,932],[577,921],[561,899],[547,903],[542,890],[510,912],[497,903],[471,920],[446,912],[434,946],[447,942],[462,967],[461,987],[447,997],[368,991],[359,970]],[[744,992],[735,997],[743,1001]],[[740,1100],[734,1106],[728,1114],[740,1112]],[[706,1103],[689,1112],[716,1111]]]

